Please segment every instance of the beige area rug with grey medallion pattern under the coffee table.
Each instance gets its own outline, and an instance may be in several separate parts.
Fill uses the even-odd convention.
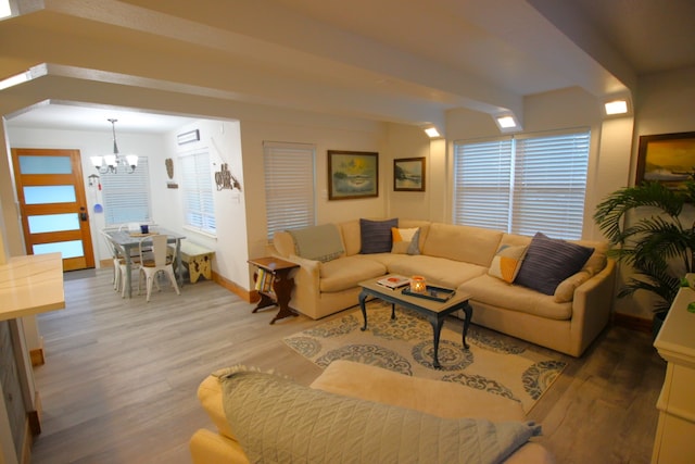
[[[473,322],[476,316],[473,314]],[[432,326],[421,315],[375,300],[367,306],[367,330],[359,309],[312,329],[285,338],[285,342],[324,368],[333,360],[377,365],[416,377],[454,381],[486,390],[521,403],[525,412],[555,381],[566,363],[527,349],[523,342],[471,325],[465,350],[463,322],[444,323],[439,344],[441,369],[432,366]]]

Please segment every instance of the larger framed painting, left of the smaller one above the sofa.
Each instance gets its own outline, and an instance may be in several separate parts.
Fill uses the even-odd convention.
[[[328,150],[328,199],[379,197],[379,153]]]

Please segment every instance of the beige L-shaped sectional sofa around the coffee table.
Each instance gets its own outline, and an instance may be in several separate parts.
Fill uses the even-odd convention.
[[[580,356],[610,319],[616,271],[615,262],[606,258],[606,242],[576,241],[593,253],[553,294],[545,294],[491,275],[501,249],[529,249],[532,237],[399,218],[397,228],[418,228],[417,254],[362,254],[361,222],[334,225],[342,250],[324,261],[302,258],[291,231],[275,234],[271,252],[301,266],[294,275],[293,309],[314,319],[325,317],[357,304],[359,281],[400,274],[421,275],[428,283],[467,291],[472,296],[475,324],[572,356]]]

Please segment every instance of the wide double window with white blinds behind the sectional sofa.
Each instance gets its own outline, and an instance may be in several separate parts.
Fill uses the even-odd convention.
[[[454,145],[454,224],[579,239],[590,133]]]

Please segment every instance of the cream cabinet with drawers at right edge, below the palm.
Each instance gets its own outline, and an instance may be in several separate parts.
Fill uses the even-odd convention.
[[[654,341],[668,366],[657,401],[653,463],[695,463],[695,313],[687,310],[692,302],[695,291],[681,288]]]

